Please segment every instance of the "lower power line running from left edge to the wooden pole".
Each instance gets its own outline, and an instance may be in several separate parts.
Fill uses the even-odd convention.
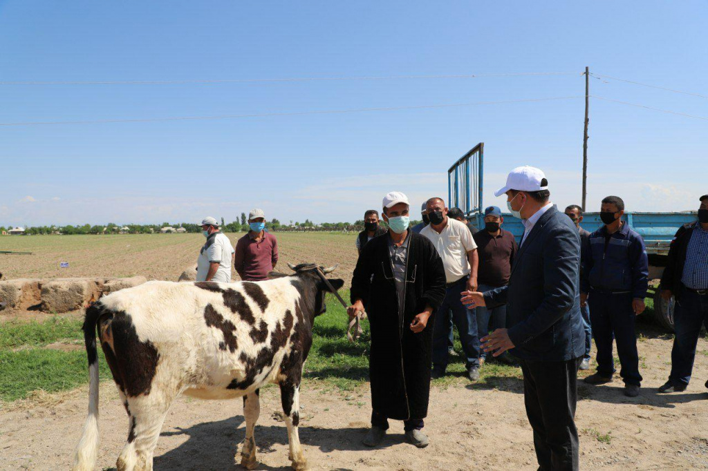
[[[370,107],[358,108],[353,110],[321,110],[321,111],[299,111],[299,112],[271,112],[271,113],[254,113],[252,115],[217,115],[217,116],[179,116],[179,117],[163,117],[163,118],[135,118],[127,120],[82,120],[82,121],[35,121],[35,122],[4,122],[0,126],[35,126],[46,124],[104,124],[116,122],[161,122],[161,121],[183,121],[183,120],[229,120],[236,118],[251,118],[251,117],[269,117],[269,116],[299,116],[299,115],[331,115],[344,114],[353,112],[372,112],[372,111],[396,111],[396,110],[423,110],[431,108],[447,108],[447,107],[462,107],[462,106],[477,106],[477,105],[503,105],[507,103],[530,103],[549,100],[570,100],[572,98],[583,98],[585,95],[576,96],[559,96],[552,98],[526,98],[522,100],[505,100],[505,101],[479,101],[476,103],[455,103],[449,105],[418,105],[418,106],[391,106],[391,107]]]

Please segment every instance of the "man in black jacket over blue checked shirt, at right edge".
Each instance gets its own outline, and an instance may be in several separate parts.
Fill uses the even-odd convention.
[[[679,228],[673,238],[661,276],[661,296],[666,301],[675,296],[676,304],[671,374],[659,392],[686,389],[701,324],[708,328],[708,194],[700,202],[698,221]]]

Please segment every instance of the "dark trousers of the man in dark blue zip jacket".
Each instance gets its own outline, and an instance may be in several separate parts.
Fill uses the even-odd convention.
[[[591,291],[590,323],[593,325],[595,347],[598,349],[598,373],[612,377],[615,362],[612,359],[612,337],[617,342],[617,356],[624,384],[641,384],[639,353],[636,351],[636,332],[632,310],[632,293],[601,293]]]

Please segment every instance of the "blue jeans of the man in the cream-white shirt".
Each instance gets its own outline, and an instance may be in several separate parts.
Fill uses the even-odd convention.
[[[450,354],[447,350],[447,342],[450,337],[450,322],[447,317],[448,311],[452,311],[452,322],[457,325],[459,342],[464,351],[465,364],[467,368],[479,366],[479,337],[477,337],[477,321],[474,317],[474,309],[467,309],[462,304],[462,291],[466,289],[467,277],[457,281],[445,290],[445,299],[442,301],[438,312],[435,313],[435,325],[433,325],[433,368],[445,371],[447,362],[450,361]]]

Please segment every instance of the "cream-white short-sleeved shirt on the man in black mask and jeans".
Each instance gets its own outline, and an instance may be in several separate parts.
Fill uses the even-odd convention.
[[[432,224],[428,224],[421,231],[421,236],[426,236],[438,250],[442,264],[445,266],[447,283],[457,281],[469,274],[471,268],[467,260],[467,252],[475,250],[477,245],[467,225],[457,219],[447,218],[447,225],[441,233],[435,231]]]

